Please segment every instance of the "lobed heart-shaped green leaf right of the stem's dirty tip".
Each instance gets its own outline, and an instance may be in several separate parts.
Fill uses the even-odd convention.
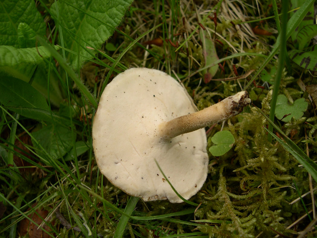
[[[290,121],[293,116],[295,117],[295,120],[297,120],[303,116],[303,112],[307,109],[307,106],[308,103],[305,101],[305,98],[299,98],[293,105],[290,105],[288,104],[286,96],[280,94],[277,96],[275,116],[283,122]],[[288,116],[284,117],[285,115]]]

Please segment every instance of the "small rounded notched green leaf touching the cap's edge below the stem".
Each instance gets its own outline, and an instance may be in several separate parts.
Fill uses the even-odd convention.
[[[217,132],[213,137],[211,137],[211,141],[216,144],[209,148],[209,152],[213,156],[221,156],[228,152],[233,143],[235,142],[235,138],[232,136],[230,131],[224,130]]]

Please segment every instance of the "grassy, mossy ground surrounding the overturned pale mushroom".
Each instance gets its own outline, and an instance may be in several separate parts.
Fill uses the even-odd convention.
[[[33,102],[31,112],[49,119],[27,117],[23,105],[16,111],[0,96],[0,238],[27,232],[25,237],[37,232],[61,238],[317,236],[317,118],[314,103],[299,86],[317,83],[288,58],[296,49],[294,31],[309,24],[306,15],[314,1],[300,6],[284,0],[135,1],[118,27],[67,2],[114,30],[96,56],[93,43],[72,32],[60,14],[53,20],[52,3],[38,2],[49,40],[36,38],[51,57],[28,81],[36,87],[38,70],[45,70],[49,83],[39,94],[47,97],[49,109]],[[255,34],[256,28],[262,34]],[[68,35],[80,48],[68,47]],[[212,57],[208,65],[201,36],[212,39],[217,52],[207,56]],[[109,43],[115,49],[107,48]],[[312,44],[309,40],[307,46]],[[76,68],[68,57],[78,52],[87,63]],[[205,77],[214,65],[217,72]],[[160,69],[179,79],[199,109],[241,90],[250,94],[252,104],[243,113],[206,128],[208,148],[221,129],[231,132],[235,144],[220,157],[209,154],[207,180],[189,201],[143,202],[113,186],[98,169],[91,135],[95,110],[107,83],[130,67]],[[263,69],[270,80],[264,80]],[[56,82],[63,98],[58,106],[50,100]],[[275,117],[279,94],[290,104],[305,98],[308,107],[299,119]],[[30,222],[26,227],[42,224],[30,231],[24,221]]]

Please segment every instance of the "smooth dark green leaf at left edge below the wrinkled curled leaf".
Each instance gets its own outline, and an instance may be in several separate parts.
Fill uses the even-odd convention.
[[[36,111],[32,109],[49,110],[45,98],[29,83],[13,77],[3,77],[0,80],[0,102],[21,115],[34,118]],[[23,110],[22,108],[29,108]],[[16,109],[16,110],[14,110]]]

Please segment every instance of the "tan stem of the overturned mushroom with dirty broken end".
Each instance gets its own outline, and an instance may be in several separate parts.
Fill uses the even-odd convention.
[[[247,91],[238,92],[201,111],[162,122],[159,125],[159,136],[168,140],[223,121],[242,112],[250,102]]]

